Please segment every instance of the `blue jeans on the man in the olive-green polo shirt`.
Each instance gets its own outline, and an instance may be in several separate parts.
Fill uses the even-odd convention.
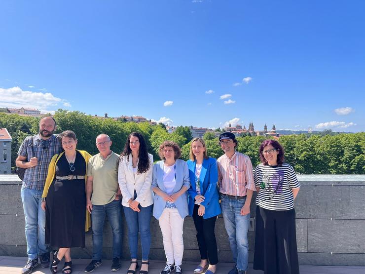
[[[122,247],[122,205],[121,200],[113,200],[105,205],[93,204],[91,228],[93,230],[93,260],[101,260],[103,253],[103,228],[105,216],[113,234],[113,258],[120,258]]]

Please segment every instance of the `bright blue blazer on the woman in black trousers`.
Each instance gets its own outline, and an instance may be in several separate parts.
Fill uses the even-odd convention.
[[[194,202],[196,193],[195,184],[195,166],[196,161],[188,160],[187,166],[189,168],[190,188],[187,191],[189,194],[189,215],[192,216],[194,209]],[[205,197],[204,201],[200,203],[205,206],[205,213],[203,219],[217,216],[221,213],[219,206],[219,194],[217,189],[218,181],[218,167],[215,158],[203,159],[202,170],[200,171],[200,193]]]

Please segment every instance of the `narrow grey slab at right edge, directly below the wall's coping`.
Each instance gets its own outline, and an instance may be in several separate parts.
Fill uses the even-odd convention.
[[[350,188],[350,213],[351,219],[365,219],[365,187],[353,186]]]

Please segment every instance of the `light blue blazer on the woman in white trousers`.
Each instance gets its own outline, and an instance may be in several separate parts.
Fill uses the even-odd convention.
[[[164,160],[158,161],[153,165],[153,175],[152,175],[152,186],[158,187],[163,192],[166,192],[165,185],[163,183],[163,164]],[[173,193],[177,193],[185,186],[187,189],[190,187],[190,180],[189,180],[189,170],[187,168],[187,164],[185,161],[181,159],[176,160],[176,185],[174,188]],[[180,196],[175,201],[176,207],[180,213],[182,218],[185,218],[188,215],[188,208],[187,208],[187,192],[185,192],[182,196]],[[154,194],[153,197],[153,216],[156,219],[161,217],[162,211],[165,209],[166,201],[157,194]]]

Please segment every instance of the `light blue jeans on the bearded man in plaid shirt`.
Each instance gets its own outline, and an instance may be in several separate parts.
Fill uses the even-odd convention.
[[[43,190],[31,190],[22,186],[22,197],[25,217],[25,237],[29,260],[38,258],[38,254],[47,253],[45,244],[45,211],[40,207]],[[39,232],[38,232],[39,228]]]

